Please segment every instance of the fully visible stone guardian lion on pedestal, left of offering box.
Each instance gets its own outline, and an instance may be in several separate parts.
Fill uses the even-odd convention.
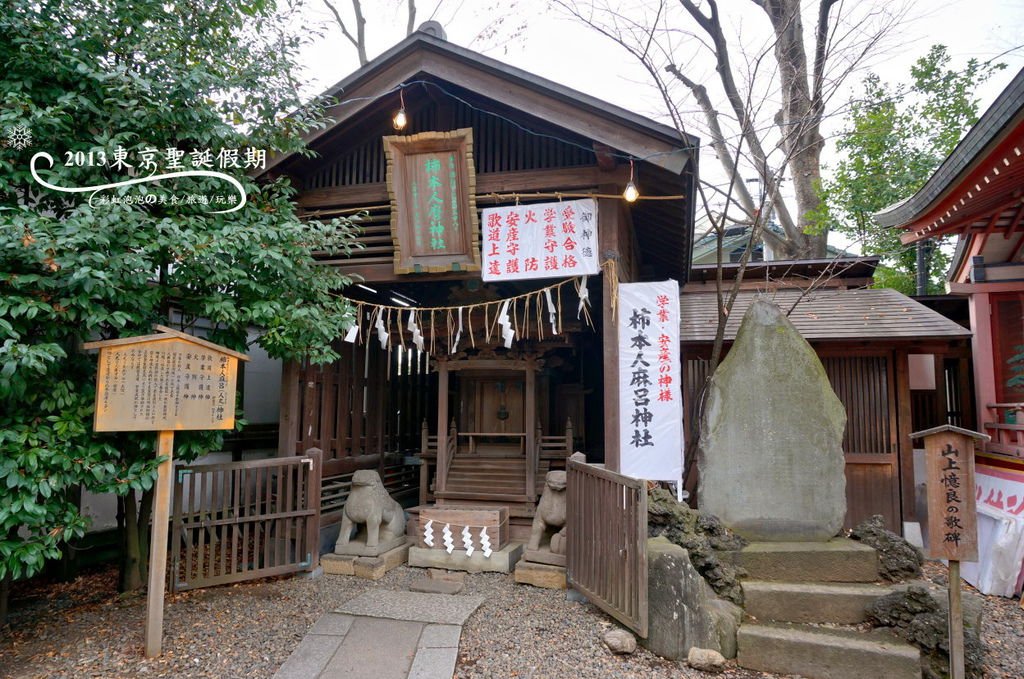
[[[376,471],[356,471],[334,554],[321,559],[324,572],[380,580],[408,560],[409,547],[401,505],[387,494]]]

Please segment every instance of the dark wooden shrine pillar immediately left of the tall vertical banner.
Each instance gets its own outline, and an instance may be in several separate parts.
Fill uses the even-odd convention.
[[[614,184],[602,184],[602,194],[617,194],[621,188]],[[615,263],[611,270],[623,275],[618,245],[618,201],[601,198],[597,201],[597,223],[601,243],[601,261],[607,259]],[[610,267],[609,267],[610,268]],[[622,469],[618,450],[618,328],[615,325],[613,305],[616,283],[605,268],[601,275],[601,343],[604,367],[604,466],[609,471]]]

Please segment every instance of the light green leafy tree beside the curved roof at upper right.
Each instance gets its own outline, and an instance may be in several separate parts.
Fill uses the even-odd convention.
[[[859,243],[864,254],[883,256],[878,286],[913,294],[916,262],[898,230],[879,226],[871,215],[925,183],[978,121],[977,86],[1002,68],[971,59],[956,71],[946,48],[935,45],[910,69],[909,86],[889,85],[876,74],[864,79],[836,143],[842,160],[822,182],[816,221]],[[930,287],[941,291],[948,255],[933,246],[930,256]]]

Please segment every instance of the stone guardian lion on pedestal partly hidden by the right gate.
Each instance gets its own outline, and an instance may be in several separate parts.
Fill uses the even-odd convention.
[[[534,526],[515,581],[546,589],[565,589],[565,472],[549,471],[534,515]]]

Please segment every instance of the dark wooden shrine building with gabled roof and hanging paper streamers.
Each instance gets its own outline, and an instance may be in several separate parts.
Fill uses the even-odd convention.
[[[617,468],[616,283],[685,283],[698,140],[424,32],[326,95],[316,156],[267,172],[306,216],[357,218],[358,247],[323,263],[357,281],[358,326],[340,360],[286,366],[280,452],[324,452],[322,525],[374,468],[528,531],[573,450]]]

